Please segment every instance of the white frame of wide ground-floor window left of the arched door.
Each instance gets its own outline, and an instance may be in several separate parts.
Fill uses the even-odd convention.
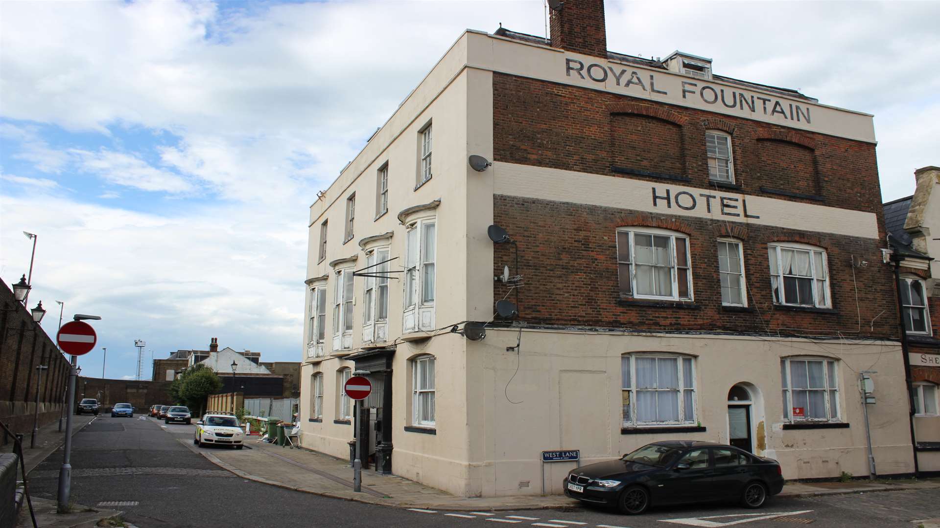
[[[657,387],[638,387],[636,378],[636,359],[643,358],[657,362]],[[620,356],[620,394],[621,394],[621,423],[622,427],[657,427],[664,425],[697,426],[697,388],[696,388],[696,359],[685,354],[669,354],[657,352],[635,352]],[[659,388],[659,366],[661,360],[676,362],[677,387]],[[686,372],[688,365],[689,372]],[[641,392],[675,392],[678,398],[677,420],[644,420],[640,421],[636,406],[637,394]]]

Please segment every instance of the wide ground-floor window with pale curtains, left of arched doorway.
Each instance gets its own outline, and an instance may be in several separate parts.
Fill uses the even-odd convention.
[[[626,354],[620,377],[623,427],[697,423],[694,358]]]

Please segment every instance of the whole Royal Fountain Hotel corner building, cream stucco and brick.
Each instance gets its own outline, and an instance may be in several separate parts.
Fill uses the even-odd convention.
[[[301,443],[349,456],[360,370],[378,470],[458,495],[666,439],[863,475],[877,370],[877,471],[912,472],[871,116],[598,51],[597,2],[553,13],[556,47],[463,33],[314,201]]]

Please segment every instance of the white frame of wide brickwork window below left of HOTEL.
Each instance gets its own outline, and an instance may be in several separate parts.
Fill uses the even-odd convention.
[[[624,233],[626,237],[624,237]],[[669,239],[669,264],[667,265],[652,265],[652,264],[640,264],[636,262],[636,235],[646,235],[653,237],[651,241],[655,243],[656,237],[668,237]],[[624,238],[628,243],[628,252],[622,251],[622,244],[624,243]],[[682,241],[685,245],[685,263],[684,266],[682,263],[678,262],[678,252],[676,241]],[[677,231],[669,231],[667,229],[660,229],[657,227],[620,227],[617,229],[617,261],[618,261],[618,278],[619,278],[619,292],[621,295],[633,297],[635,299],[665,299],[670,301],[692,301],[694,299],[693,287],[692,287],[692,256],[689,251],[689,237],[684,233]],[[653,268],[668,268],[669,269],[669,280],[670,288],[672,295],[649,295],[637,293],[636,287],[636,268],[637,266],[650,266]],[[684,271],[684,273],[683,273]],[[626,278],[624,274],[629,275],[629,291],[627,291],[625,286]],[[680,275],[684,274],[686,276],[685,282],[688,285],[688,295],[681,296],[679,292]],[[655,275],[653,275],[655,276]]]

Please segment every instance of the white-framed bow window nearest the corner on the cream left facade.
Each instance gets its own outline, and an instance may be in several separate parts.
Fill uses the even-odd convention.
[[[429,230],[433,230],[433,243],[428,241]],[[416,220],[405,232],[403,332],[433,329],[437,299],[437,234],[436,217]]]

